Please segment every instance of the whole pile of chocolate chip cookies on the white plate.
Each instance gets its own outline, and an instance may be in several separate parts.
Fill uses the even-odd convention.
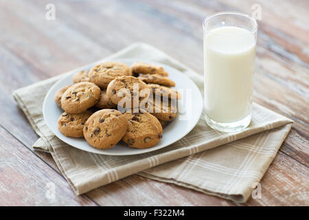
[[[181,98],[168,72],[158,65],[104,62],[73,75],[73,85],[59,89],[55,102],[65,112],[58,129],[67,137],[84,137],[91,146],[155,146],[163,127],[177,115]]]

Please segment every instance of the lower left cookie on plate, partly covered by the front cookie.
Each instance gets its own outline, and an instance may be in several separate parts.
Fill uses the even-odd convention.
[[[84,111],[78,114],[64,112],[58,119],[58,129],[67,137],[84,137],[84,124],[91,116],[91,111]]]

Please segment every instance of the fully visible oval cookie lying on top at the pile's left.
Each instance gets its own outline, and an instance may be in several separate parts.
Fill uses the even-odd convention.
[[[82,113],[100,99],[100,88],[89,82],[76,83],[62,95],[61,107],[67,113]]]

